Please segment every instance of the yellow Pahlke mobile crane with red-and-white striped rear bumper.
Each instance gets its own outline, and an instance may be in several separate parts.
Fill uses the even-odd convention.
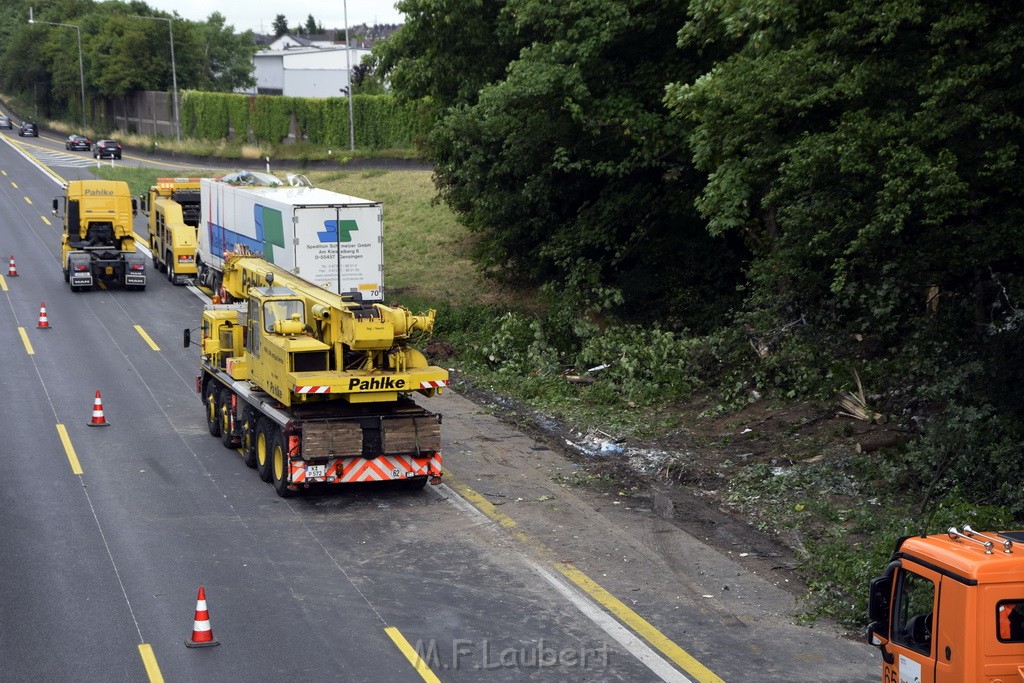
[[[221,295],[203,313],[196,390],[210,434],[241,446],[290,496],[311,483],[441,476],[440,416],[412,395],[447,385],[411,343],[434,311],[334,294],[261,258],[225,256]],[[184,331],[184,345],[191,342]]]

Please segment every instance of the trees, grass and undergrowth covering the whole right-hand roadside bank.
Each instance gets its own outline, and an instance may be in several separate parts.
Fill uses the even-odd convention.
[[[897,537],[1024,522],[1024,8],[434,4],[375,50],[433,182],[310,176],[460,381],[623,446],[565,483],[646,454],[851,627]]]

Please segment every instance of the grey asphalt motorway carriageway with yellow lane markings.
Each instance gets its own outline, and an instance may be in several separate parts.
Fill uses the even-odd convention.
[[[87,173],[76,158],[93,164],[59,141],[13,138],[66,179]],[[864,645],[737,618],[749,605],[710,607],[699,580],[684,579],[687,562],[714,565],[716,582],[736,567],[698,544],[674,542],[686,557],[664,573],[653,560],[605,570],[602,558],[636,541],[629,522],[570,493],[557,492],[558,528],[569,515],[580,525],[570,552],[544,536],[554,506],[518,508],[516,521],[455,483],[280,499],[207,432],[198,351],[181,344],[201,298],[153,268],[145,292],[72,294],[49,216],[58,193],[0,140],[0,273],[9,256],[17,270],[0,275],[0,679],[714,682],[792,672],[864,681],[877,672]],[[96,391],[104,427],[88,424]],[[527,476],[523,463],[554,454],[458,396],[427,403],[445,414],[454,477],[547,500],[536,490],[548,490],[550,474],[538,461]],[[602,526],[609,520],[615,528]],[[559,553],[600,571],[592,575],[609,593]],[[730,574],[737,588],[739,575]],[[220,645],[194,649],[184,640],[200,586]]]

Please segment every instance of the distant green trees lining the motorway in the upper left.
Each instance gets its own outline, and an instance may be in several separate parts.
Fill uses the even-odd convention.
[[[28,20],[30,5],[35,25]],[[24,95],[41,116],[67,114],[78,120],[83,87],[79,34],[87,112],[94,99],[136,90],[170,91],[174,76],[182,90],[231,92],[253,85],[256,46],[251,31],[236,34],[219,12],[205,22],[168,18],[167,12],[140,0],[10,0],[0,13],[0,88]]]

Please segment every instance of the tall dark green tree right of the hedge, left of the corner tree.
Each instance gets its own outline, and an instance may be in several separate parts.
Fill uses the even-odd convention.
[[[441,197],[478,236],[482,267],[586,304],[707,322],[699,309],[734,290],[737,269],[692,208],[700,182],[663,102],[667,83],[697,73],[695,51],[676,45],[685,7],[509,0],[444,15],[440,5],[402,3],[408,23],[381,63],[402,96],[449,106],[427,154]],[[466,27],[465,52],[449,54],[444,32]]]

